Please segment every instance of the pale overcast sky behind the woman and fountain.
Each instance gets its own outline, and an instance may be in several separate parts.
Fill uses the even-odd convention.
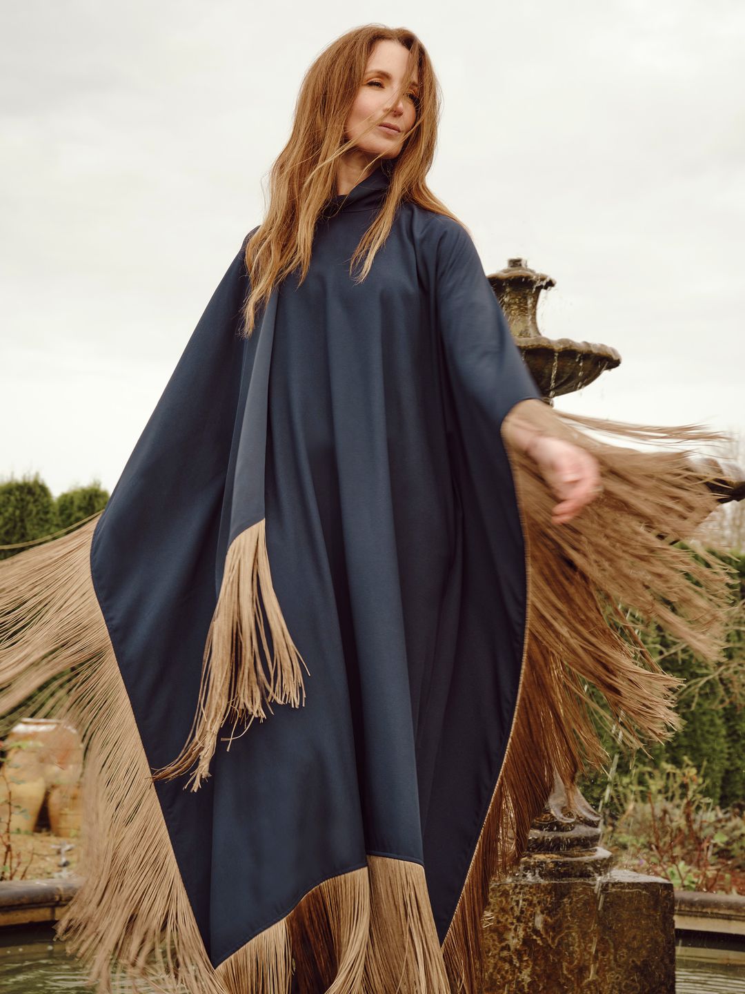
[[[543,333],[621,353],[557,408],[745,432],[742,0],[0,2],[0,478],[113,488],[306,68],[369,22],[430,53],[430,186],[486,271],[525,257]]]

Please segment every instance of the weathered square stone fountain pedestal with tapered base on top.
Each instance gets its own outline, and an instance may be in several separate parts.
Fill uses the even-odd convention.
[[[600,817],[557,784],[484,916],[484,994],[673,994],[669,881],[612,868]]]

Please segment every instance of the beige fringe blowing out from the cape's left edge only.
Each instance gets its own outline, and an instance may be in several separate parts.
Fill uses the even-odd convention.
[[[100,994],[110,994],[112,970],[114,980],[144,977],[161,991],[225,994],[184,890],[90,580],[96,521],[0,564],[0,713],[51,681],[34,717],[70,722],[84,750],[86,876],[58,934]]]

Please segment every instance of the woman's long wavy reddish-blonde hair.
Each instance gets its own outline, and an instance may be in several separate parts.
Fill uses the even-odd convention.
[[[418,71],[416,120],[394,165],[391,163],[385,199],[355,249],[350,273],[364,256],[357,281],[362,282],[368,275],[375,252],[385,242],[404,199],[462,224],[424,182],[434,157],[442,106],[440,86],[424,46],[405,28],[368,24],[347,32],[332,42],[305,74],[295,104],[292,132],[269,171],[266,217],[245,247],[251,287],[243,304],[245,337],[250,337],[256,310],[268,299],[275,284],[298,268],[299,283],[305,279],[316,224],[324,206],[336,194],[337,159],[355,144],[345,139],[347,117],[374,45],[386,40],[399,42],[409,51],[404,80],[414,68]],[[375,123],[373,120],[368,130]],[[370,175],[369,170],[366,175]]]

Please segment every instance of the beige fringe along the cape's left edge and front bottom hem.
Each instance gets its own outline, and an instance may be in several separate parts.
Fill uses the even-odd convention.
[[[294,970],[303,994],[448,994],[424,869],[377,856],[213,967],[90,579],[96,521],[0,564],[0,713],[49,684],[34,717],[82,735],[85,877],[58,933],[89,982],[100,994],[126,980],[169,994],[287,994]]]

